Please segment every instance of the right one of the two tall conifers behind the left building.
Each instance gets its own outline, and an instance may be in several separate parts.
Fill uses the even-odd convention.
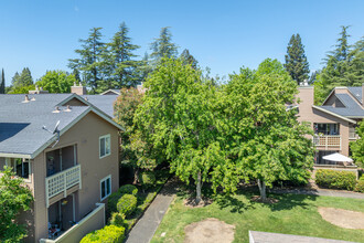
[[[139,82],[136,68],[140,65],[140,62],[135,60],[137,57],[135,51],[140,46],[131,43],[128,33],[129,29],[122,22],[119,31],[115,33],[111,42],[108,43],[115,88],[136,86]]]

